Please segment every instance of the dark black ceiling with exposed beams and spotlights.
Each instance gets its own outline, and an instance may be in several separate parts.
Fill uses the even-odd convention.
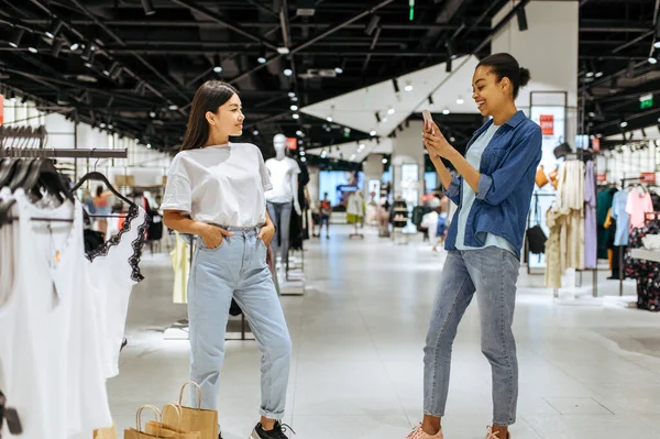
[[[452,54],[487,55],[491,20],[507,1],[417,0],[410,20],[407,0],[0,0],[0,78],[43,99],[46,109],[59,105],[70,118],[111,125],[164,151],[180,144],[197,87],[220,78],[241,91],[246,141],[267,145],[276,132],[301,131],[314,147],[369,134],[353,130],[345,138],[342,127],[326,120],[296,120],[292,105],[305,107]],[[642,114],[638,100],[660,88],[660,73],[648,62],[656,0],[581,3],[585,130],[615,133],[623,118],[627,129],[658,123],[660,108]],[[53,28],[55,39],[48,36]],[[289,53],[279,54],[283,47]],[[459,139],[481,123],[466,114],[443,120]]]

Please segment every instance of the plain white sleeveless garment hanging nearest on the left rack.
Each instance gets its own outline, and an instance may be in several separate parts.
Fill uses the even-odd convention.
[[[19,263],[12,297],[0,309],[0,361],[7,381],[0,387],[21,416],[22,438],[90,437],[92,430],[112,426],[112,419],[102,328],[85,268],[82,207],[65,201],[41,208],[22,189],[13,198]]]

